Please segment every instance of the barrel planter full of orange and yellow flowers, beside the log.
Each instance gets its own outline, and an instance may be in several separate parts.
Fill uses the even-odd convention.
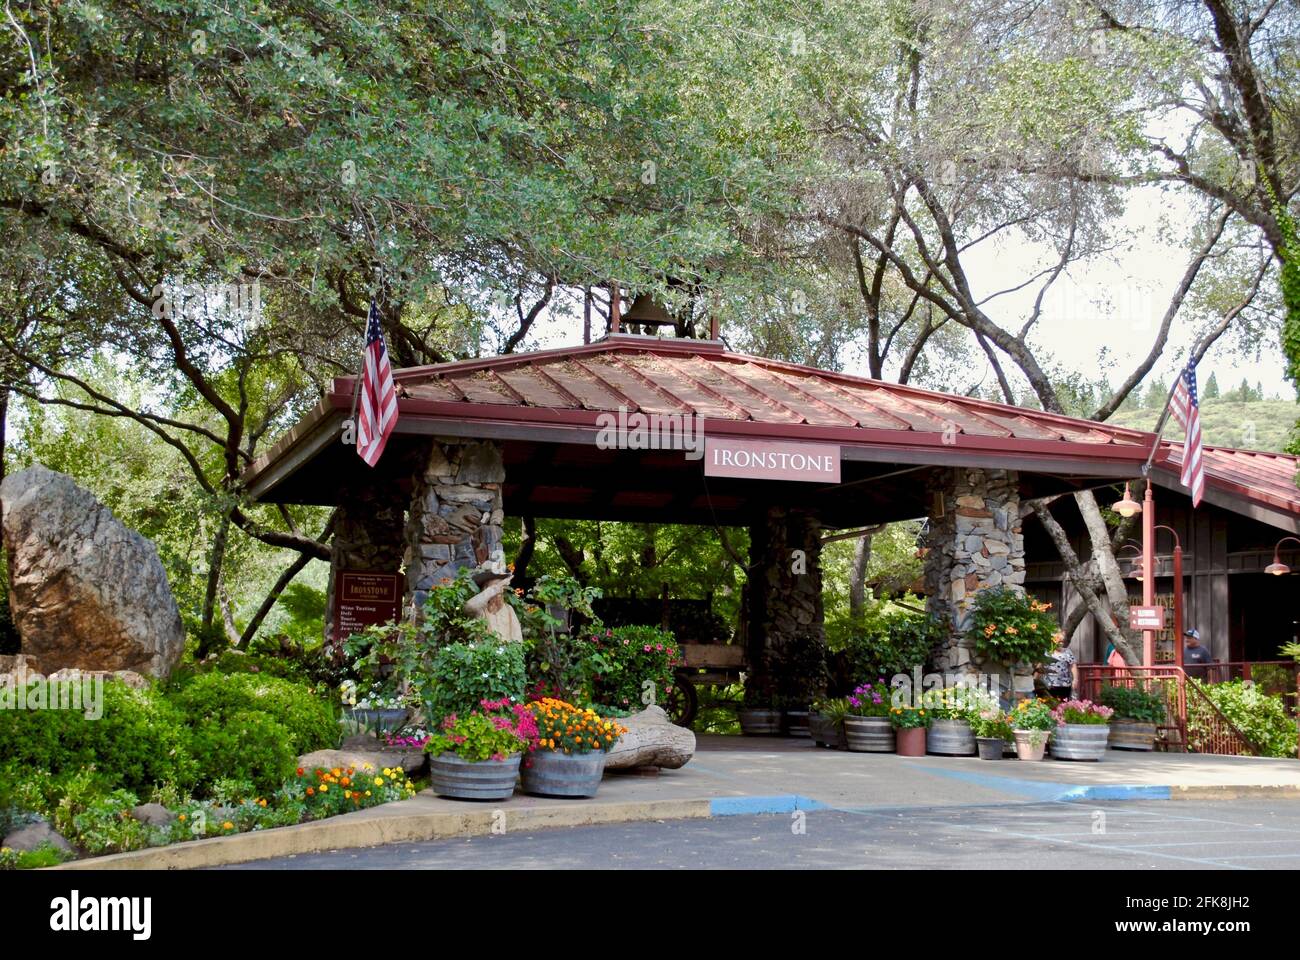
[[[543,699],[528,705],[536,734],[524,757],[520,780],[525,793],[538,796],[595,796],[604,775],[604,758],[628,732],[595,710],[582,710],[563,700]]]

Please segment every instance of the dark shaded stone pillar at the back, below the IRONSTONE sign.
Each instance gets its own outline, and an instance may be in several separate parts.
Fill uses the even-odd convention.
[[[750,528],[746,687],[798,708],[826,692],[822,524],[802,510],[770,507]]]

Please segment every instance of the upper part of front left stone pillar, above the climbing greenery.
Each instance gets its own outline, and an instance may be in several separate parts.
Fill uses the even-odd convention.
[[[463,567],[506,572],[500,485],[506,467],[491,441],[438,437],[416,470],[406,524],[406,610]]]

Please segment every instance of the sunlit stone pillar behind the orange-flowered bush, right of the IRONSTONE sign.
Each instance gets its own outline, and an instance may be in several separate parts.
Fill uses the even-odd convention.
[[[935,657],[941,673],[997,673],[1004,689],[1010,678],[1000,665],[975,660],[974,644],[963,635],[970,606],[985,587],[1008,585],[1024,592],[1024,536],[1017,475],[1008,470],[954,467],[939,472],[931,492],[942,500],[942,515],[930,518],[926,554],[927,609],[952,627],[949,641]],[[1017,689],[1032,678],[1017,678]]]

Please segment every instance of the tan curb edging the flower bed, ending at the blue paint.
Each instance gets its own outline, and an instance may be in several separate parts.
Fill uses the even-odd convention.
[[[439,810],[398,816],[374,816],[372,810],[361,810],[311,823],[252,830],[231,836],[211,836],[203,840],[174,843],[168,847],[151,847],[129,853],[74,860],[48,869],[195,870],[299,853],[377,847],[387,843],[488,836],[494,833],[494,829],[495,833],[500,833],[506,823],[508,823],[510,830],[517,831],[630,821],[690,820],[708,816],[711,814],[707,799],[581,804],[577,807],[542,804],[519,809],[495,805],[478,807],[464,813]],[[350,820],[351,817],[355,820]]]

